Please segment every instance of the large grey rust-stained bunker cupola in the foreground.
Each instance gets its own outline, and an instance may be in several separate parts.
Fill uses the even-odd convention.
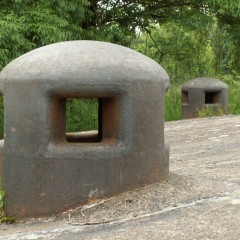
[[[160,65],[111,43],[61,42],[12,61],[0,73],[7,214],[50,215],[166,178],[168,86]],[[98,99],[97,136],[68,139],[68,98]]]

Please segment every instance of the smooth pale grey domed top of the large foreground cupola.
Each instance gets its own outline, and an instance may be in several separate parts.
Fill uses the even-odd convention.
[[[1,81],[81,81],[91,84],[139,81],[162,81],[169,77],[152,59],[129,48],[97,41],[68,41],[47,45],[8,64]]]

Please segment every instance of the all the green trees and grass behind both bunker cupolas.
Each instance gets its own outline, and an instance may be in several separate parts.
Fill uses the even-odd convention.
[[[200,76],[225,81],[229,112],[240,113],[239,0],[0,0],[0,70],[34,48],[80,39],[124,45],[161,64],[171,79],[166,120],[180,119],[180,86]],[[81,104],[83,111],[68,107],[69,131],[81,114],[92,119],[81,129],[96,128],[93,104]]]

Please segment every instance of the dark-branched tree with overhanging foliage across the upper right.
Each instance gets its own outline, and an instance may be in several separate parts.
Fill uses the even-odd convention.
[[[90,38],[126,46],[131,46],[137,32],[149,33],[153,25],[162,26],[175,22],[183,26],[185,31],[195,31],[195,35],[198,35],[198,53],[196,54],[199,64],[201,45],[205,44],[205,40],[208,39],[206,34],[209,35],[209,30],[216,24],[219,29],[228,29],[224,31],[228,32],[225,34],[225,39],[232,42],[231,47],[227,48],[227,51],[231,51],[232,54],[229,66],[236,70],[240,69],[240,60],[236,55],[236,49],[240,47],[238,0],[92,0],[89,1],[89,11],[94,20],[86,22],[84,27],[87,30],[93,30],[94,33]],[[211,40],[208,39],[208,41]],[[224,48],[226,51],[226,47]],[[212,51],[210,48],[208,50]],[[217,54],[216,51],[214,53]],[[228,55],[230,56],[230,53]],[[226,58],[222,58],[219,63],[218,57],[220,55],[215,55],[216,68],[217,65],[222,65],[222,61],[226,61]]]

